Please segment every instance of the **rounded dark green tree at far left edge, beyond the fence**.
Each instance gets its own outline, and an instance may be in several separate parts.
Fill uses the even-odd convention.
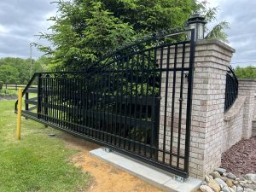
[[[0,81],[4,84],[20,83],[18,79],[19,72],[15,67],[8,65],[0,66]]]

